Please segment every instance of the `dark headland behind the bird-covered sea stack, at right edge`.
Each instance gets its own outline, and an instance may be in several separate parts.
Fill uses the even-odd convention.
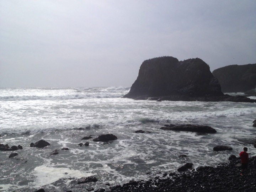
[[[223,92],[245,92],[256,87],[256,64],[229,65],[213,71]]]

